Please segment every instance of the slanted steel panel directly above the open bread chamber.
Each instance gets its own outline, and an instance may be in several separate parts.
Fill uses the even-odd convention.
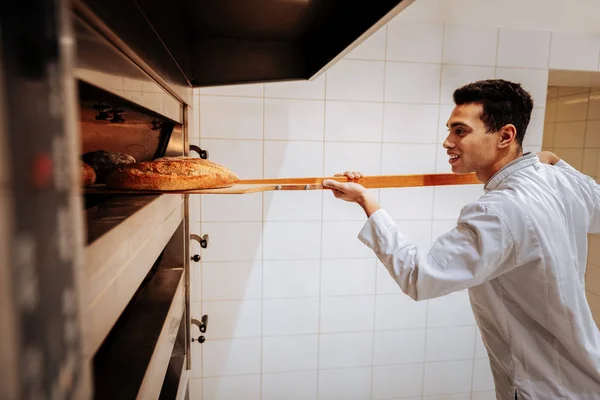
[[[181,123],[177,99],[81,18],[74,17],[75,77]]]

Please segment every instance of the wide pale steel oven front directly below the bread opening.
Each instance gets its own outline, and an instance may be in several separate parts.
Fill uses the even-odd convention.
[[[96,209],[94,209],[96,208]],[[120,196],[87,210],[84,355],[91,358],[184,218],[182,196]]]

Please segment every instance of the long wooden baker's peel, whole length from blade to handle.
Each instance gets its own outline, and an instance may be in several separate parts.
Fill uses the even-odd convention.
[[[115,194],[245,194],[267,192],[274,190],[322,190],[323,181],[332,179],[338,182],[349,182],[345,176],[325,178],[275,178],[275,179],[244,179],[237,184],[223,189],[193,189],[178,191],[160,190],[123,190],[111,189],[104,185],[94,185],[85,188],[87,194],[115,193]],[[421,187],[421,186],[446,186],[446,185],[473,185],[481,183],[475,174],[415,174],[415,175],[375,175],[363,176],[352,180],[369,189]]]

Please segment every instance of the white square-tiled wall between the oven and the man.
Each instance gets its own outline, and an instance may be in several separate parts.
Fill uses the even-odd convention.
[[[600,49],[569,37],[598,68]],[[201,89],[194,141],[242,178],[447,172],[452,91],[501,77],[535,98],[525,150],[537,151],[548,68],[569,62],[569,37],[400,15],[312,82]],[[427,247],[482,188],[375,194]],[[210,322],[192,345],[194,399],[494,398],[468,294],[404,295],[356,238],[358,206],[329,192],[225,197],[195,200],[210,242],[193,314]]]

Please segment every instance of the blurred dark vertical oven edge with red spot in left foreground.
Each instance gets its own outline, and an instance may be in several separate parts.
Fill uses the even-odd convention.
[[[0,107],[9,155],[0,157],[9,178],[0,190],[6,246],[0,253],[7,258],[0,269],[10,288],[0,289],[10,296],[0,296],[8,318],[1,325],[9,329],[0,351],[13,356],[0,373],[2,398],[90,397],[78,310],[83,225],[67,6],[65,0],[0,2]]]

